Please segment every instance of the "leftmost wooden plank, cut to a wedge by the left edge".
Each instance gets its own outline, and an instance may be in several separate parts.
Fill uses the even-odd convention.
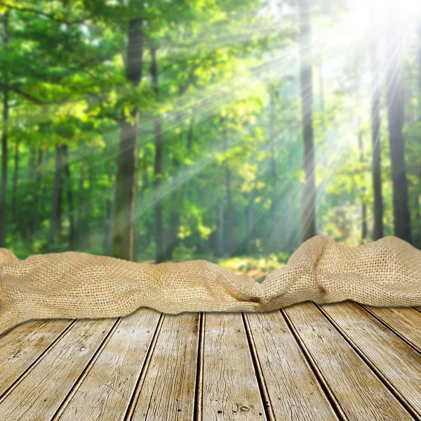
[[[30,321],[0,338],[0,401],[22,375],[40,361],[72,321]]]

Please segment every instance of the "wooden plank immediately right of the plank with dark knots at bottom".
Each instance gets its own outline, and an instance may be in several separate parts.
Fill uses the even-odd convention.
[[[246,314],[269,401],[279,420],[338,420],[280,312]]]

